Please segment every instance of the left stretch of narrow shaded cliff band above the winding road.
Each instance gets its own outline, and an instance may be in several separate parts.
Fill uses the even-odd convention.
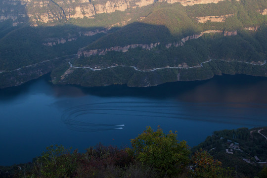
[[[134,45],[127,45],[127,46],[115,46],[115,47],[109,47],[106,49],[91,49],[91,50],[86,50],[85,48],[80,49],[78,51],[78,58],[81,56],[84,57],[89,57],[91,55],[105,55],[106,52],[108,51],[121,51],[121,52],[126,52],[128,51],[130,48],[135,48],[135,47],[142,47],[143,49],[152,49],[154,47],[156,47],[157,45],[159,45],[160,43],[155,43],[155,44],[149,44],[149,45],[142,45],[142,44],[134,44]]]

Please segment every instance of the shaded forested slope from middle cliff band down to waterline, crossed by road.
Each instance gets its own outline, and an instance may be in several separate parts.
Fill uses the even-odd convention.
[[[127,84],[138,87],[203,80],[222,73],[266,76],[267,44],[262,40],[266,34],[267,28],[262,26],[257,32],[238,31],[237,35],[228,37],[222,34],[205,34],[178,47],[158,45],[150,50],[136,47],[127,52],[110,51],[105,55],[70,60],[78,68],[70,68],[71,72],[64,75],[64,79],[61,77],[66,69],[62,70],[62,67],[56,69],[51,76],[55,78],[55,83],[61,84]],[[109,66],[124,67],[108,68]],[[92,71],[87,67],[102,70]]]

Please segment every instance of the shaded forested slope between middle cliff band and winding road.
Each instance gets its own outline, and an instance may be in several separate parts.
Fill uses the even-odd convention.
[[[151,26],[151,29],[154,27]],[[119,33],[119,31],[117,32]],[[153,69],[167,65],[178,66],[181,63],[194,66],[210,58],[263,62],[266,60],[267,48],[265,46],[267,43],[261,39],[266,34],[267,27],[265,26],[262,26],[256,33],[238,31],[238,35],[229,37],[223,37],[222,34],[206,34],[199,39],[189,40],[178,47],[167,48],[165,45],[159,45],[151,50],[137,47],[130,48],[127,52],[110,51],[105,55],[81,57],[73,61],[73,64],[91,67],[97,64],[103,68],[118,64],[136,66],[138,69]],[[133,41],[138,44],[138,39]],[[124,42],[127,45],[127,41]],[[150,43],[152,41],[147,41],[147,44]],[[108,45],[109,41],[106,44]]]

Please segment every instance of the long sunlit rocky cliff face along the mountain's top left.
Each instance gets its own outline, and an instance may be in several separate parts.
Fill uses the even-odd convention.
[[[156,1],[178,2],[186,6],[217,3],[221,0],[2,0],[0,22],[11,19],[15,26],[26,22],[25,18],[29,17],[32,25],[38,26],[43,23],[64,22],[70,18],[93,18],[95,14],[125,11],[128,8],[142,7]]]

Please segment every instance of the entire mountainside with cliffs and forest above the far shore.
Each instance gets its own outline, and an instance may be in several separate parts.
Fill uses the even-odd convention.
[[[0,88],[267,76],[266,0],[0,0]]]

